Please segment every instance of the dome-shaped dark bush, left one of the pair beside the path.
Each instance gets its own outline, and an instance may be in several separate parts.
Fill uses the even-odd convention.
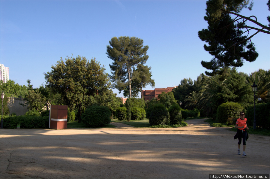
[[[149,117],[149,124],[151,126],[170,124],[170,114],[164,105],[157,104],[153,106]]]

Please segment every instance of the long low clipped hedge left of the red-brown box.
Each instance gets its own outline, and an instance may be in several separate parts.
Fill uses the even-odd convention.
[[[17,124],[20,128],[49,128],[49,116],[10,116],[4,118],[3,128],[16,129]]]

